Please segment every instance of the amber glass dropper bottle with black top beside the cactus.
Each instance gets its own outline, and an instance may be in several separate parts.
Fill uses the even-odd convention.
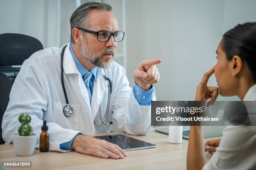
[[[48,152],[49,151],[49,133],[47,132],[48,126],[46,125],[46,120],[44,120],[44,124],[41,127],[42,133],[40,135],[40,152]]]

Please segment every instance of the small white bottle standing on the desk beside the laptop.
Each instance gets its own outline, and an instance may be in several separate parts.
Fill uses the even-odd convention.
[[[168,142],[179,144],[182,143],[183,126],[169,126]]]

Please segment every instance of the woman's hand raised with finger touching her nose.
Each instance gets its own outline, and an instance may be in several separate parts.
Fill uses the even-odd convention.
[[[202,77],[200,84],[197,86],[197,93],[195,96],[195,101],[204,101],[211,99],[207,102],[207,106],[213,105],[214,101],[219,95],[218,87],[207,87],[207,82],[210,76],[214,73],[214,67]]]

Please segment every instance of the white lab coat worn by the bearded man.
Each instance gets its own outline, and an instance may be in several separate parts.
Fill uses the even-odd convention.
[[[70,141],[79,131],[83,135],[109,133],[110,125],[94,125],[94,120],[100,123],[101,105],[102,119],[105,115],[108,100],[108,82],[106,75],[112,81],[112,94],[107,114],[112,113],[118,128],[128,134],[145,135],[151,130],[151,107],[141,106],[129,87],[125,70],[113,62],[109,69],[97,70],[94,82],[92,101],[90,105],[88,92],[82,80],[72,54],[67,45],[64,53],[64,84],[69,104],[74,113],[66,117],[63,108],[66,105],[61,86],[60,56],[61,48],[51,47],[35,52],[24,61],[10,92],[10,102],[3,116],[3,139],[12,143],[14,133],[18,132],[21,113],[31,115],[33,133],[37,135],[36,148],[39,148],[39,135],[43,120],[47,120],[50,135],[50,150],[61,150],[59,144]],[[153,94],[155,99],[155,93]],[[97,115],[97,116],[96,116]],[[110,122],[106,120],[105,123]]]

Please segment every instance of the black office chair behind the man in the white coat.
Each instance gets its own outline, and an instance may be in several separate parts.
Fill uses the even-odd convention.
[[[34,37],[22,34],[0,34],[0,144],[3,114],[9,102],[10,90],[22,63],[43,45]]]

